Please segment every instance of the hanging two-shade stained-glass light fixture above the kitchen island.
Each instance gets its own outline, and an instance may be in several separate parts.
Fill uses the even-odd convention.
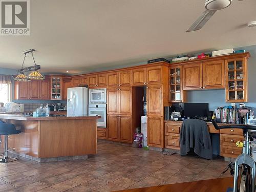
[[[25,56],[24,56],[23,63],[22,63],[22,69],[18,70],[19,74],[13,79],[14,81],[31,81],[31,80],[44,80],[45,79],[45,76],[40,74],[37,71],[38,69],[41,69],[41,66],[36,65],[36,63],[35,63],[35,59],[34,59],[34,55],[33,55],[34,51],[35,51],[34,49],[29,49],[29,50],[26,50],[23,52],[25,54]],[[23,68],[25,58],[26,58],[27,54],[29,54],[29,53],[32,54],[32,58],[33,58],[35,65],[27,67],[27,68]],[[25,72],[28,72],[28,71],[32,71],[32,72],[27,76],[25,74]]]

